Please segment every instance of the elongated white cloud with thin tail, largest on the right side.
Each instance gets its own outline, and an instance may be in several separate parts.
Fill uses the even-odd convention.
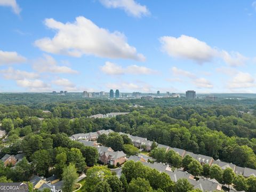
[[[210,62],[215,58],[220,58],[229,66],[244,65],[248,59],[239,52],[228,53],[225,50],[218,50],[215,47],[199,41],[195,37],[181,35],[180,37],[163,36],[159,38],[162,43],[162,50],[174,58],[189,59],[199,64]]]

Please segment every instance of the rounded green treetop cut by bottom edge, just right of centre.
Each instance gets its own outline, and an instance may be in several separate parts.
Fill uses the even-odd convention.
[[[143,178],[132,179],[128,185],[127,192],[153,192],[149,182]]]

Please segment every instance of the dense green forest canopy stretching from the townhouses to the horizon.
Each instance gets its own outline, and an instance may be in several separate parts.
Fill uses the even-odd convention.
[[[50,175],[43,167],[55,166],[61,177],[62,168],[69,163],[75,164],[78,173],[83,172],[85,165],[92,166],[97,162],[97,151],[70,141],[68,137],[102,129],[138,135],[163,145],[256,169],[254,98],[223,97],[215,102],[185,98],[146,101],[83,99],[78,93],[6,93],[0,94],[0,103],[1,129],[7,133],[1,141],[0,157],[23,151],[27,160],[34,162],[36,168],[33,171],[37,174]],[[112,112],[130,113],[111,118],[89,118]],[[121,148],[134,151],[127,145]],[[70,158],[70,154],[76,158]],[[45,162],[41,162],[43,157],[46,157]],[[37,167],[37,164],[42,166]],[[15,175],[9,171],[7,178],[17,181]]]

